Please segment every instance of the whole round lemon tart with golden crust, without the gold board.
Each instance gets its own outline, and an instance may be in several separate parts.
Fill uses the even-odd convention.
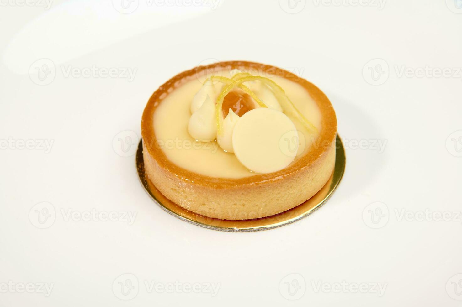
[[[315,85],[246,61],[176,75],[141,120],[154,186],[189,211],[228,220],[271,216],[315,195],[334,170],[336,132]]]

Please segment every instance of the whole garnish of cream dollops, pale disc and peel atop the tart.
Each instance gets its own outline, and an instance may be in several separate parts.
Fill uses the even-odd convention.
[[[213,82],[224,84],[221,92]],[[287,115],[316,131],[273,80],[238,69],[231,71],[231,78],[207,79],[193,98],[191,113],[188,132],[193,138],[217,139],[223,150],[256,173],[276,172],[295,159],[298,132]],[[295,150],[285,150],[287,140]]]

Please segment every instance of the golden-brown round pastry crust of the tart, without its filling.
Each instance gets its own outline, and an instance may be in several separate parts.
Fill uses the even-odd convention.
[[[153,114],[173,89],[217,68],[258,70],[302,85],[315,100],[322,116],[316,143],[285,169],[239,179],[209,177],[172,163],[156,146]],[[271,216],[310,199],[334,170],[336,133],[334,108],[315,85],[283,69],[246,61],[219,62],[176,75],[152,94],[141,120],[143,158],[149,180],[177,205],[207,217],[228,220]]]

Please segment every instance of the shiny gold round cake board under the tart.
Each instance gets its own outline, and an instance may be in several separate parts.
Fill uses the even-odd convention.
[[[205,217],[192,211],[188,211],[167,199],[146,177],[143,162],[142,141],[140,141],[138,150],[136,152],[136,166],[141,184],[145,188],[146,193],[151,196],[152,200],[156,204],[158,204],[162,209],[171,215],[178,217],[179,219],[188,223],[192,223],[208,229],[232,232],[247,232],[273,229],[297,222],[298,220],[307,217],[319,209],[322,205],[324,205],[339,185],[339,182],[342,179],[343,173],[345,171],[345,150],[338,134],[335,142],[335,148],[336,156],[334,173],[324,185],[324,187],[322,187],[322,189],[313,197],[305,201],[303,204],[298,205],[297,207],[275,214],[273,216],[242,221],[220,220],[217,218]]]

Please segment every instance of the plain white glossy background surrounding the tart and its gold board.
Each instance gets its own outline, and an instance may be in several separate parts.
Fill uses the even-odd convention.
[[[0,306],[461,306],[457,1],[221,0],[212,9],[139,0],[133,12],[115,1],[122,13],[111,1],[55,0],[48,10],[21,1],[0,0]],[[55,73],[40,81],[43,58]],[[139,136],[160,84],[217,60],[286,68],[332,101],[346,173],[300,223],[225,233],[182,222],[149,199],[133,149],[117,143]],[[79,77],[92,66],[136,73]],[[444,68],[450,76],[438,78]],[[55,212],[48,224],[37,220],[41,202]],[[92,209],[136,217],[66,218]],[[413,220],[426,209],[434,215]],[[444,212],[451,220],[438,219]],[[28,283],[32,293],[18,293]],[[186,293],[194,283],[219,291]],[[366,293],[354,290],[363,283]]]

